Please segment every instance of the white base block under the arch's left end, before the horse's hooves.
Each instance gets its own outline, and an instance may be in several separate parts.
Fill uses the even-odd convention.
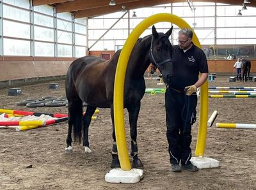
[[[106,182],[115,184],[135,184],[140,182],[142,178],[143,170],[140,169],[124,171],[121,168],[115,168],[105,175]]]

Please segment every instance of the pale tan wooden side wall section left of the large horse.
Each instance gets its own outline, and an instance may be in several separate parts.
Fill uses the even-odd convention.
[[[0,87],[60,80],[72,61],[0,61]]]

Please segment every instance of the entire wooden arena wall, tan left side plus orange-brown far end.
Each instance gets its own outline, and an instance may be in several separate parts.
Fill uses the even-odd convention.
[[[114,51],[90,51],[88,55],[102,57],[102,54],[110,54],[112,57]],[[53,60],[53,61],[52,61]],[[14,85],[61,80],[65,78],[68,66],[74,61],[74,58],[49,59],[44,57],[22,58],[22,57],[4,57],[0,61],[1,75],[0,87],[11,87]],[[217,75],[234,75],[234,63],[236,60],[208,60],[209,73]],[[148,72],[148,69],[147,71]],[[252,60],[251,76],[256,73],[256,60]]]

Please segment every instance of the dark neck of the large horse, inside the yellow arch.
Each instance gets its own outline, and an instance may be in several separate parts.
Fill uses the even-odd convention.
[[[147,37],[137,43],[131,52],[129,64],[127,65],[127,75],[130,77],[143,77],[150,64],[149,49],[150,37]]]

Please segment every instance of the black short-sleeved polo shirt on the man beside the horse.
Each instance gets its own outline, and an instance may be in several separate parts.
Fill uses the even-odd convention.
[[[173,80],[169,85],[175,89],[184,89],[198,80],[200,73],[208,73],[207,59],[204,51],[193,46],[184,52],[178,45],[173,46]]]

